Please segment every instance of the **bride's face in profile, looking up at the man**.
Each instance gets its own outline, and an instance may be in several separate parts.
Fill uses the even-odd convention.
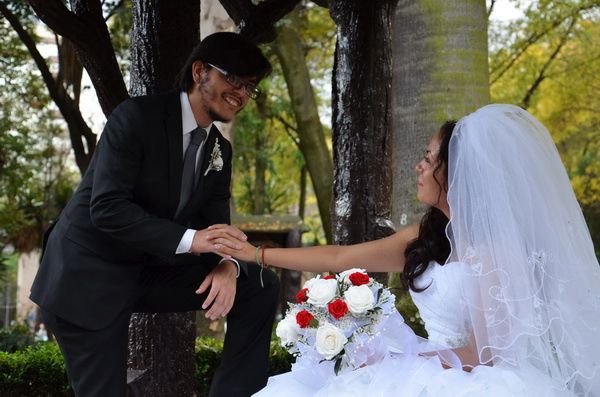
[[[446,184],[446,165],[439,164],[438,161],[441,142],[440,134],[435,134],[427,145],[425,155],[415,167],[418,175],[417,198],[421,203],[446,212],[448,202],[446,201],[446,191],[443,188]]]

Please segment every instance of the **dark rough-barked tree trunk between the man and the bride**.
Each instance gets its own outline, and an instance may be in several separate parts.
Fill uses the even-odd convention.
[[[352,244],[389,234],[391,32],[395,0],[335,0],[333,237]],[[386,277],[380,276],[384,282]]]

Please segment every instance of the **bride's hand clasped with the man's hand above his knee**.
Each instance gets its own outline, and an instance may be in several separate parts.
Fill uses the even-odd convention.
[[[232,256],[245,262],[255,261],[256,247],[248,243],[247,236],[230,225],[212,225],[207,229],[213,250],[222,257]]]

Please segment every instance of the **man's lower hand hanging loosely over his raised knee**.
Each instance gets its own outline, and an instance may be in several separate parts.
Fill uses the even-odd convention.
[[[225,317],[233,307],[236,289],[237,266],[231,261],[223,261],[206,276],[197,294],[202,294],[210,288],[202,309],[210,307],[204,317],[216,320]],[[211,306],[212,304],[212,306]]]

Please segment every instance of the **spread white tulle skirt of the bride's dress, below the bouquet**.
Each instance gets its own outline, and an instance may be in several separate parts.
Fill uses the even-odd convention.
[[[480,365],[444,368],[438,357],[387,354],[381,361],[335,375],[329,361],[300,358],[292,371],[269,378],[257,397],[566,397],[537,369]]]

